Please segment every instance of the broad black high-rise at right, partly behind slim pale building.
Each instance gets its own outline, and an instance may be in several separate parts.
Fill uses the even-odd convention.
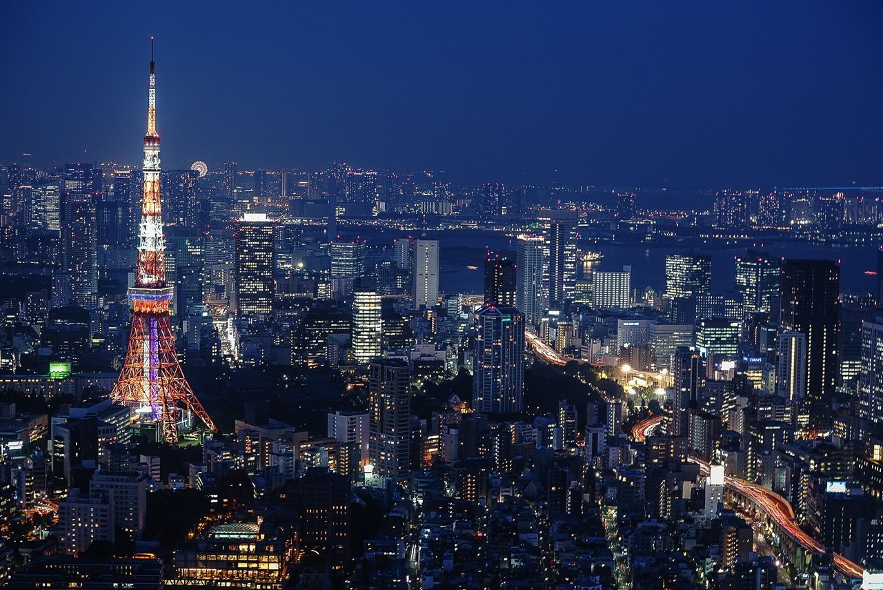
[[[826,432],[837,384],[840,269],[833,261],[786,261],[781,269],[782,332],[806,337],[806,396],[811,430]]]

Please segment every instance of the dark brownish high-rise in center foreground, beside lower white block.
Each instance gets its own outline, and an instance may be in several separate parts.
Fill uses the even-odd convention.
[[[374,359],[368,371],[373,474],[403,480],[411,474],[411,370],[404,360]]]

